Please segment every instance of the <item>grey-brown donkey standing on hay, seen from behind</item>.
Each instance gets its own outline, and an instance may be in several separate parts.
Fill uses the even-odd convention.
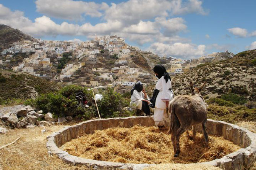
[[[208,105],[200,94],[204,84],[199,88],[193,88],[193,82],[190,82],[191,95],[178,95],[169,103],[169,112],[171,114],[170,133],[172,134],[171,139],[175,153],[174,157],[180,154],[180,136],[190,126],[192,126],[193,138],[195,138],[196,128],[194,126],[201,123],[204,139],[208,142],[208,134],[206,131]]]

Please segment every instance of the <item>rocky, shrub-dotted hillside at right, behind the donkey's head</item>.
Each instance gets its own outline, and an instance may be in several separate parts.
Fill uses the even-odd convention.
[[[256,50],[244,51],[233,58],[198,65],[193,70],[172,79],[175,95],[190,94],[189,82],[196,86],[206,82],[202,94],[209,97],[228,92],[248,100],[256,100]]]

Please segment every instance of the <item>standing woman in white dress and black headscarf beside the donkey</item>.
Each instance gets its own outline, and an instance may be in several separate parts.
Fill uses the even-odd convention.
[[[171,78],[162,65],[157,64],[153,70],[158,79],[156,89],[159,90],[154,109],[154,121],[156,126],[163,128],[165,125],[164,118],[169,118],[166,109],[168,109],[169,102],[173,99]]]

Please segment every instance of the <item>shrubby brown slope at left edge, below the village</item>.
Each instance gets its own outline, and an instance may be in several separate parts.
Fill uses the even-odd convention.
[[[52,82],[27,73],[0,70],[0,102],[6,99],[29,99],[39,94],[57,91]]]

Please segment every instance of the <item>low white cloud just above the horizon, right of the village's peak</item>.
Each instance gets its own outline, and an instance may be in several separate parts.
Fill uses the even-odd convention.
[[[194,57],[199,57],[205,54],[205,45],[193,45],[189,43],[173,43],[173,44],[164,44],[164,43],[153,43],[147,49],[154,53],[174,57],[183,57],[186,59],[192,59]]]

